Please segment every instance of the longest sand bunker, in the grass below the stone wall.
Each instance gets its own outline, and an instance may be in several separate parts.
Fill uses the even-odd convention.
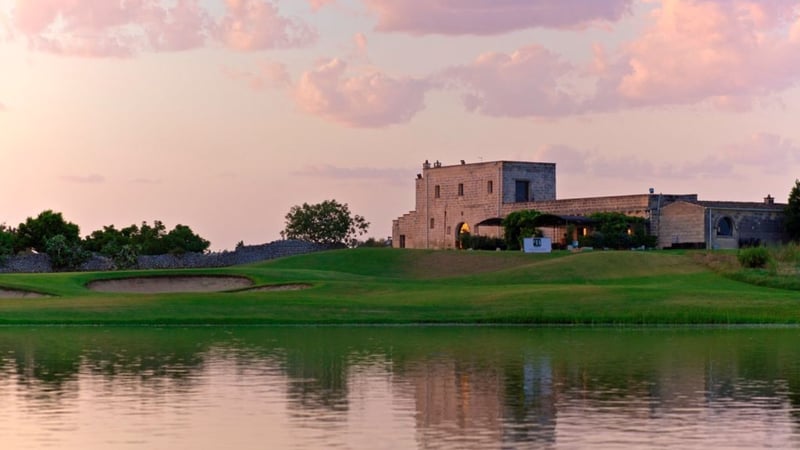
[[[88,288],[99,292],[162,294],[170,292],[220,292],[252,286],[244,277],[170,276],[96,280]]]

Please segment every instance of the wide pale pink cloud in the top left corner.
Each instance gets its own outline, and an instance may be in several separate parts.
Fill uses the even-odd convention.
[[[13,16],[32,49],[89,57],[197,47],[205,21],[197,0],[17,0]]]

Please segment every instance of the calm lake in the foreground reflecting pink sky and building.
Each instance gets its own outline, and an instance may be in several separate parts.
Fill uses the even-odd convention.
[[[3,448],[800,446],[798,329],[3,328]]]

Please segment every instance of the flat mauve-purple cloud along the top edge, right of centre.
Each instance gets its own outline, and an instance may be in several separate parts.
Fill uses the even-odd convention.
[[[364,0],[380,31],[498,34],[533,27],[573,28],[617,21],[632,0]]]

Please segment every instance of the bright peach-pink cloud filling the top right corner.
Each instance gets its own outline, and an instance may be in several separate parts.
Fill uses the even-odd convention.
[[[800,79],[796,1],[662,0],[612,60],[598,54],[592,109],[696,104],[748,109]]]

